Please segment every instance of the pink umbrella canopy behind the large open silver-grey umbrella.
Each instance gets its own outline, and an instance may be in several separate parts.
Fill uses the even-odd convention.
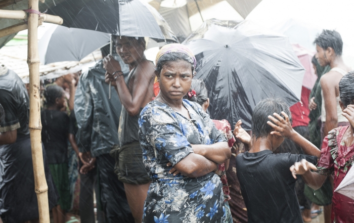
[[[312,65],[312,58],[315,55],[315,52],[309,51],[306,48],[301,47],[299,44],[292,44],[294,52],[299,58],[302,66],[305,68],[305,75],[302,80],[302,86],[312,89],[317,80],[317,75],[315,73],[314,66]]]

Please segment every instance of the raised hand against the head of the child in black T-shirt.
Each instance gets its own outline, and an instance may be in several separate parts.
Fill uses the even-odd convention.
[[[276,118],[271,115],[268,116],[268,118],[275,123],[267,121],[267,123],[275,130],[272,131],[271,134],[290,138],[294,134],[294,130],[291,127],[289,116],[285,112],[281,112],[281,114],[284,115],[285,119],[277,113],[273,114]]]

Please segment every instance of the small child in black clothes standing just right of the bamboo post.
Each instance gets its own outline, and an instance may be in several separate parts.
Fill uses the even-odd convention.
[[[69,117],[60,111],[64,107],[65,95],[62,87],[50,85],[45,91],[46,109],[40,114],[42,142],[47,152],[49,168],[59,193],[59,202],[52,209],[55,223],[65,222],[65,210],[70,209],[68,177],[68,134]]]

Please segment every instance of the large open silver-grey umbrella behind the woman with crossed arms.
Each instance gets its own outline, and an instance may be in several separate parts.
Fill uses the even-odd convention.
[[[209,90],[209,114],[250,129],[262,99],[279,96],[289,106],[301,97],[304,68],[287,37],[249,21],[208,20],[184,44],[197,58],[196,78]]]

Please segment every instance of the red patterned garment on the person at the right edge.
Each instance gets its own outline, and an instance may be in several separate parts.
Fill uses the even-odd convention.
[[[323,175],[334,173],[334,190],[342,182],[354,160],[354,145],[347,147],[342,141],[348,127],[350,125],[340,126],[328,132],[328,136],[323,140],[321,158],[317,164],[318,173]],[[331,221],[354,222],[354,200],[333,192]]]

